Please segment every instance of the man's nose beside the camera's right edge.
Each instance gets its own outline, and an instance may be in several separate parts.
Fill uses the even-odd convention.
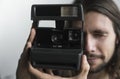
[[[90,34],[85,35],[85,51],[86,52],[95,52],[95,40]]]

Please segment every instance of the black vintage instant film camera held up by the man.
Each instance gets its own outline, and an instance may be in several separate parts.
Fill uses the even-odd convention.
[[[33,5],[31,19],[36,36],[30,50],[33,67],[79,70],[83,54],[83,7],[81,4]],[[55,20],[56,27],[38,27],[40,20]],[[73,21],[81,28],[65,28]],[[68,24],[68,27],[74,25]]]

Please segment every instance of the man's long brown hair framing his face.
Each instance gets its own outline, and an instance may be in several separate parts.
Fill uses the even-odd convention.
[[[75,4],[81,3],[81,0],[76,0]],[[113,29],[117,36],[118,43],[114,55],[107,66],[107,72],[120,79],[120,11],[113,0],[84,0],[84,12],[90,11],[99,12],[106,15],[113,22]]]

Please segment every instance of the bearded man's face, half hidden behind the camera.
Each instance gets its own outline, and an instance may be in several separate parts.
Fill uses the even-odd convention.
[[[79,23],[76,23],[79,24]],[[85,14],[85,50],[90,71],[103,69],[113,56],[116,35],[112,21],[97,12]]]

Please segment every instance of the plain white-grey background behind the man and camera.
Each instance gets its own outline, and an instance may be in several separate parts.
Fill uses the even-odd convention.
[[[15,79],[18,59],[29,35],[32,4],[73,0],[0,0],[0,79]],[[120,4],[120,0],[116,0]]]

